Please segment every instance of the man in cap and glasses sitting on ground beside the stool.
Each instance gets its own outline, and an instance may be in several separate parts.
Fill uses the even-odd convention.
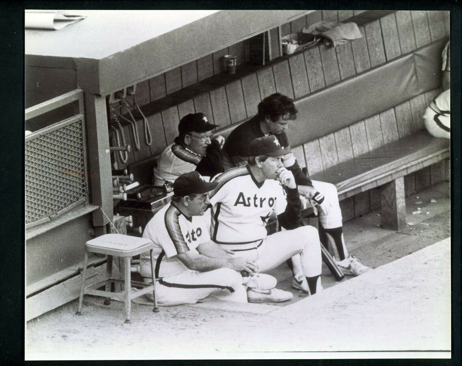
[[[195,304],[209,295],[246,303],[247,287],[269,290],[276,285],[273,276],[254,273],[254,261],[231,256],[210,240],[202,215],[210,203],[207,193],[217,185],[197,172],[182,174],[173,183],[172,201],[146,225],[143,237],[154,243],[161,306]],[[149,252],[140,255],[140,273],[146,283],[152,282]],[[153,301],[152,293],[146,297]]]

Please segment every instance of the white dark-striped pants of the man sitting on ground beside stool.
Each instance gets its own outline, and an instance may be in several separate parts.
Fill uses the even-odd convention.
[[[223,300],[247,302],[242,276],[230,268],[208,272],[188,270],[164,277],[158,281],[156,292],[158,304],[161,306],[195,304],[211,294]]]

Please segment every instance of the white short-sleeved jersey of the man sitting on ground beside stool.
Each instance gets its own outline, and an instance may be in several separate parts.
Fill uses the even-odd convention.
[[[156,278],[188,270],[176,255],[189,250],[196,251],[199,244],[210,240],[203,217],[185,216],[173,201],[152,217],[146,225],[143,237],[154,243],[152,261],[155,262]],[[152,277],[150,266],[149,252],[141,254],[141,276]]]

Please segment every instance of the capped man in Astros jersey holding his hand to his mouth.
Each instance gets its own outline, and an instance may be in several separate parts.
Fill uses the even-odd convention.
[[[316,228],[302,226],[297,185],[282,162],[287,152],[290,147],[281,147],[276,136],[257,138],[250,144],[248,165],[232,168],[213,180],[218,186],[209,193],[213,205],[210,233],[222,248],[255,262],[255,272],[269,271],[300,254],[307,292],[314,295],[322,290],[321,244]],[[273,213],[287,230],[267,235],[266,224]],[[292,297],[291,292],[277,289],[247,292],[252,302]]]

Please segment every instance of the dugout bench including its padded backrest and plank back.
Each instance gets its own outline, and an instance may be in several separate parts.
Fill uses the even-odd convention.
[[[440,93],[441,51],[447,40],[295,99],[298,117],[287,135],[299,165],[313,180],[335,184],[340,201],[379,188],[383,227],[406,226],[404,181],[409,174],[426,169],[432,184],[449,178],[450,141],[430,136],[422,120],[426,106]],[[365,39],[353,41],[353,49],[359,47],[355,42]],[[308,52],[312,50],[305,51],[305,58]],[[267,68],[276,75],[280,64],[299,56],[280,57]],[[291,68],[292,83],[306,78],[296,70]],[[248,119],[215,132],[227,137]],[[133,163],[129,171],[149,184],[155,160]],[[310,215],[312,210],[304,210],[304,217]]]

